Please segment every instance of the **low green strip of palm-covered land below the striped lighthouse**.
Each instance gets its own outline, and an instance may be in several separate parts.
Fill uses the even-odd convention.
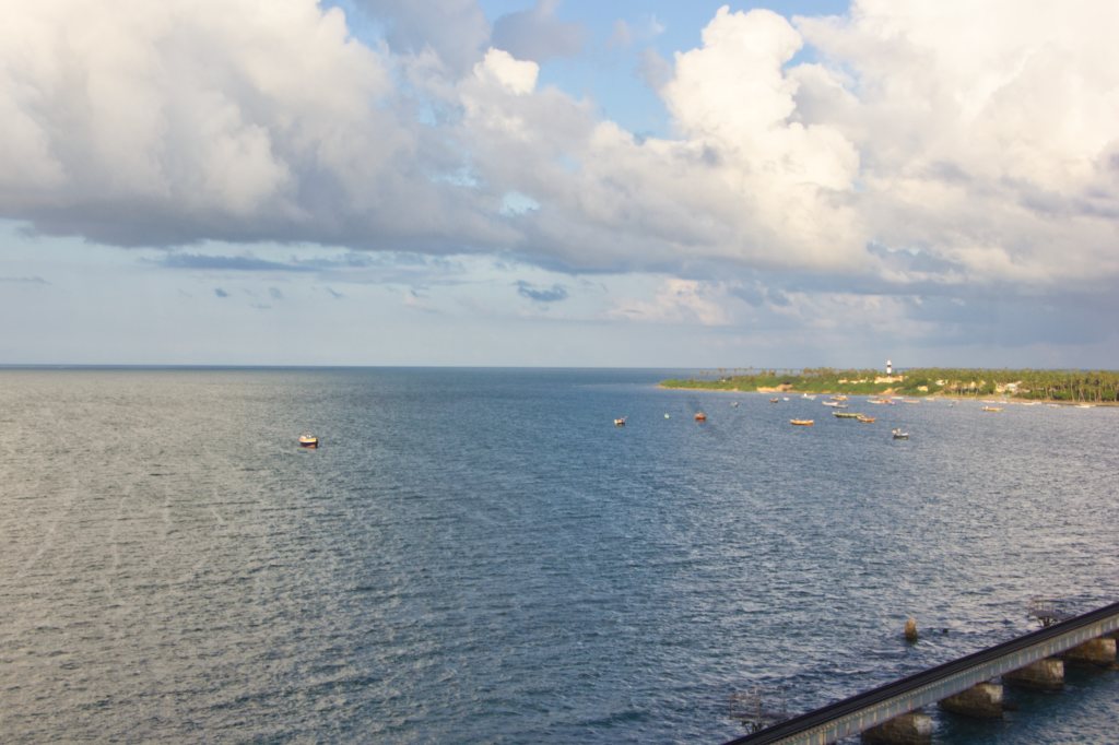
[[[661,380],[662,388],[740,393],[797,393],[865,396],[950,396],[1045,402],[1056,404],[1119,404],[1119,371],[1009,370],[925,367],[895,371],[722,368],[695,378]]]

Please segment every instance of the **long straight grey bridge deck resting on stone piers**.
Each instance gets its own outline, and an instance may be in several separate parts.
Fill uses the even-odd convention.
[[[1028,669],[1047,658],[1082,647],[1117,630],[1119,630],[1119,603],[1112,603],[787,719],[730,741],[727,745],[834,743],[841,737],[857,735],[930,704],[951,699],[993,678]],[[1113,641],[1110,654],[1113,660]]]

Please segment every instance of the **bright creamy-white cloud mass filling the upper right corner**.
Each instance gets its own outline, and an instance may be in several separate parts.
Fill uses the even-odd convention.
[[[857,2],[799,19],[828,64],[798,105],[857,144],[878,239],[975,282],[1113,277],[1117,23],[1108,3]]]

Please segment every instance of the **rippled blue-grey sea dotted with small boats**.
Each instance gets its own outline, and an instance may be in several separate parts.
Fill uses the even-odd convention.
[[[1119,600],[1119,408],[687,374],[0,370],[0,739],[722,743]],[[1119,742],[1007,702],[934,742]]]

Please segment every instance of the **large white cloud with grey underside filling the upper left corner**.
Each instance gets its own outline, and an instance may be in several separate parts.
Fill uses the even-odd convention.
[[[124,245],[500,241],[432,183],[392,65],[313,0],[25,4],[0,25],[0,213]]]

